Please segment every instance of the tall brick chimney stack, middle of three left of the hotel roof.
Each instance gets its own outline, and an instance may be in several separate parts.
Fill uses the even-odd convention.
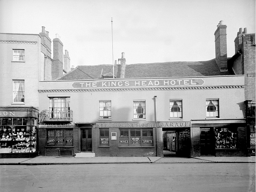
[[[52,59],[52,80],[56,80],[63,75],[63,43],[59,34],[53,39],[53,59]]]

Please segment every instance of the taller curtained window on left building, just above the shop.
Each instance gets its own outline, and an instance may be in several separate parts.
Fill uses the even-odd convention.
[[[24,103],[24,80],[13,80],[13,102],[22,102]]]

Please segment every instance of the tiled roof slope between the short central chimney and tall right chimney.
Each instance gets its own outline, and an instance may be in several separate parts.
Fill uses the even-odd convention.
[[[233,71],[220,72],[215,59],[193,62],[164,62],[126,65],[125,78],[196,77],[234,75]]]

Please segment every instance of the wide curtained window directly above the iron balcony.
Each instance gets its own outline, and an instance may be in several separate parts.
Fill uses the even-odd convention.
[[[50,119],[70,119],[70,97],[49,98]]]

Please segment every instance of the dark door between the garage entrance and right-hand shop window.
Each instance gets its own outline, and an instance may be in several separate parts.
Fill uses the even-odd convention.
[[[200,152],[201,155],[215,155],[213,130],[210,128],[200,129]]]

